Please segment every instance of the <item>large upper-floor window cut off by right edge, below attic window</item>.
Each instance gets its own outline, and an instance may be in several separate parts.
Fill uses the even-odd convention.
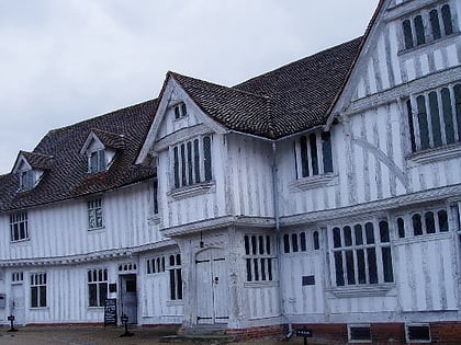
[[[412,96],[406,107],[413,152],[460,140],[461,84]]]

